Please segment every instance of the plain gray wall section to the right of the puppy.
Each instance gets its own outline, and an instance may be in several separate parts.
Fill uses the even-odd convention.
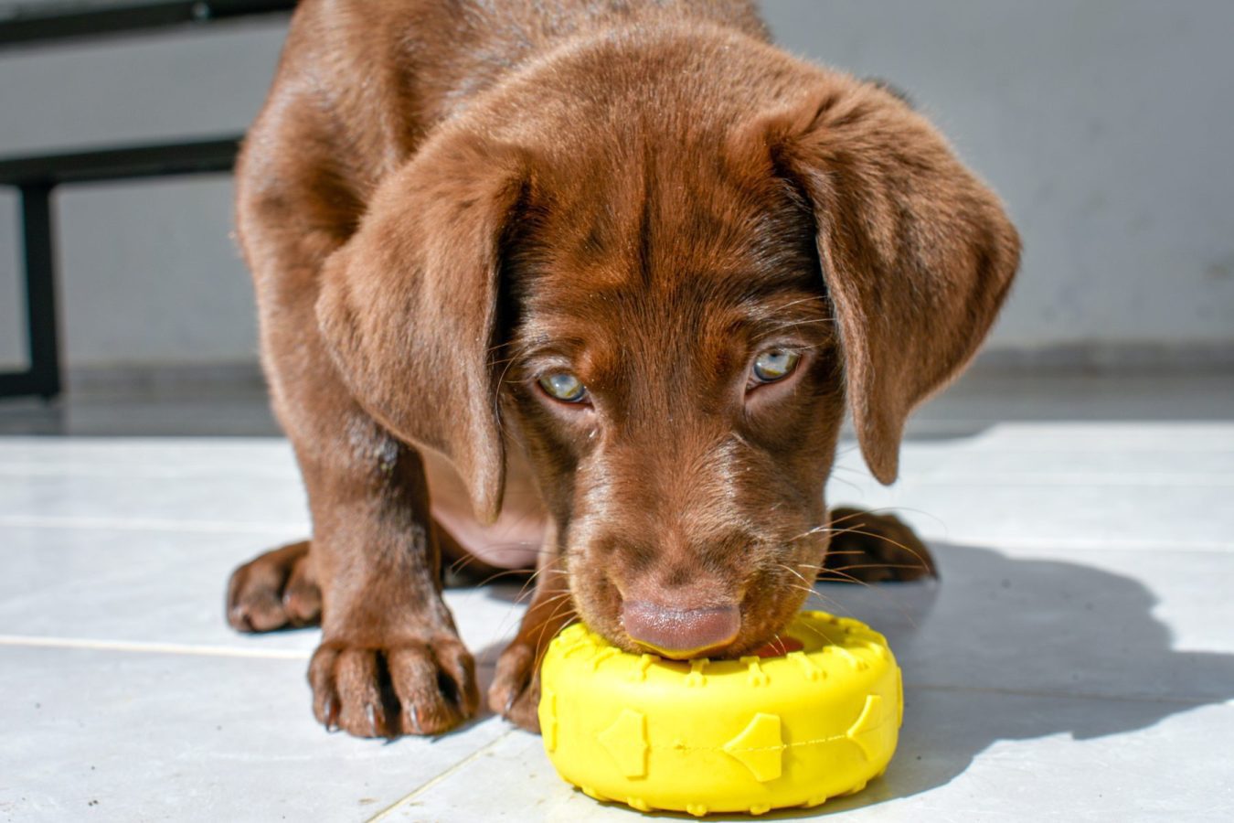
[[[1234,345],[1234,2],[765,9],[791,51],[909,90],[1007,201],[996,344]]]

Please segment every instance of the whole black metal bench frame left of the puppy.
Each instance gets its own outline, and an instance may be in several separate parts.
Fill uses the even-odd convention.
[[[285,12],[295,0],[176,0],[88,9],[69,14],[16,14],[0,19],[0,48],[47,41],[204,23],[249,15]],[[26,342],[30,366],[0,373],[0,397],[56,397],[60,380],[56,307],[56,232],[52,194],[67,183],[130,180],[230,172],[239,136],[90,152],[0,159],[0,185],[21,195],[21,236],[26,283]]]

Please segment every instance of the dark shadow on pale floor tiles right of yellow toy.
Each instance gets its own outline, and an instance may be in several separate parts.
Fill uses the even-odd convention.
[[[890,769],[851,797],[760,819],[918,795],[998,742],[1122,734],[1234,698],[1234,655],[1176,650],[1138,580],[988,548],[932,548],[940,582],[821,584],[810,603],[870,623],[900,660],[905,723]]]

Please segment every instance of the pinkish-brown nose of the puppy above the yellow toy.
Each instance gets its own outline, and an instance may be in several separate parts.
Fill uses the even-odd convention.
[[[649,651],[685,660],[732,643],[742,628],[742,612],[735,605],[676,608],[632,600],[622,605],[621,621]]]

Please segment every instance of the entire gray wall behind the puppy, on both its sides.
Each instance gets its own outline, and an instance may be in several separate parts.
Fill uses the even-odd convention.
[[[1025,242],[992,345],[1234,350],[1234,2],[769,0],[789,49],[908,90]],[[0,52],[0,153],[239,130],[281,25]],[[70,365],[254,357],[230,185],[59,195]],[[0,360],[21,357],[0,200]]]

